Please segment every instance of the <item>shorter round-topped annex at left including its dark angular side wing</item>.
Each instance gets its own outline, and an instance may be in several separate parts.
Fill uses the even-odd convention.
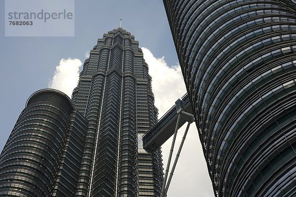
[[[1,153],[0,196],[74,196],[71,184],[77,184],[86,123],[79,113],[74,115],[66,94],[53,89],[35,92]]]

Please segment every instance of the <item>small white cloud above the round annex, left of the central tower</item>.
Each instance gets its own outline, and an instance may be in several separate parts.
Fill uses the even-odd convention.
[[[79,59],[61,59],[48,86],[66,93],[71,98],[72,91],[78,83],[81,65]]]

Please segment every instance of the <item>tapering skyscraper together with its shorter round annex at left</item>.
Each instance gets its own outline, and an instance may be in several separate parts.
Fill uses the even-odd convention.
[[[74,88],[26,104],[0,156],[0,196],[157,197],[161,151],[142,135],[157,121],[148,65],[121,27],[90,51]]]

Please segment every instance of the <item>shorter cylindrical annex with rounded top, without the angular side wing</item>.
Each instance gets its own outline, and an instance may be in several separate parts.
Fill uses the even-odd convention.
[[[29,99],[0,156],[0,196],[50,197],[73,104],[53,89]]]

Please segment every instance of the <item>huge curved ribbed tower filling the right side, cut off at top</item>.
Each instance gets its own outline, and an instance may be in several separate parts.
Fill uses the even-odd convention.
[[[296,196],[296,1],[163,0],[216,196]]]

